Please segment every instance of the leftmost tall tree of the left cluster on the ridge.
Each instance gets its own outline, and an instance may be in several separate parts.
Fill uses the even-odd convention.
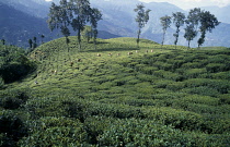
[[[66,44],[68,46],[68,36],[70,35],[68,26],[70,25],[70,19],[72,17],[72,14],[69,9],[69,2],[67,2],[67,0],[60,0],[59,4],[60,5],[56,5],[54,2],[51,3],[48,14],[48,26],[51,30],[55,28],[60,28],[61,34],[66,37]]]

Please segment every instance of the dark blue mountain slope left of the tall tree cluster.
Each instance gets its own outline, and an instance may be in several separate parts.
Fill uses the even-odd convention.
[[[28,15],[24,12],[0,2],[0,39],[9,44],[27,46],[27,40],[33,37],[45,35],[45,40],[50,40],[50,33],[46,20]]]

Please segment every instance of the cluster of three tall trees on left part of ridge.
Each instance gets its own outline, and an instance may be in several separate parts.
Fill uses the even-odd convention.
[[[77,32],[77,40],[81,50],[81,32],[87,24],[91,25],[94,47],[96,48],[97,22],[102,13],[96,8],[91,8],[89,0],[60,0],[59,5],[51,3],[48,14],[48,26],[51,30],[60,28],[68,46],[70,27]],[[68,48],[69,51],[69,48]]]

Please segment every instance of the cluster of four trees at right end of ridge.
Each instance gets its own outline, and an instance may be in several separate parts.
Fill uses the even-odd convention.
[[[162,16],[161,19],[161,26],[163,28],[163,40],[162,46],[164,42],[164,35],[166,28],[170,27],[171,23],[176,27],[175,34],[173,36],[175,37],[174,45],[176,48],[177,41],[179,41],[179,35],[180,35],[180,27],[185,25],[185,34],[184,38],[188,42],[188,48],[191,48],[191,41],[197,37],[198,34],[200,34],[199,39],[197,40],[198,48],[204,45],[206,33],[211,30],[220,24],[218,22],[217,17],[214,14],[210,14],[209,11],[200,10],[199,8],[192,9],[187,15],[185,16],[182,12],[173,13],[172,16]]]

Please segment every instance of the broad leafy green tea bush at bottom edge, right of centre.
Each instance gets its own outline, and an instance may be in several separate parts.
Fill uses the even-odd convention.
[[[169,146],[220,146],[215,136],[182,133],[171,126],[149,120],[117,120],[99,136],[99,146],[116,147],[169,147]],[[228,135],[223,142],[228,140]]]

